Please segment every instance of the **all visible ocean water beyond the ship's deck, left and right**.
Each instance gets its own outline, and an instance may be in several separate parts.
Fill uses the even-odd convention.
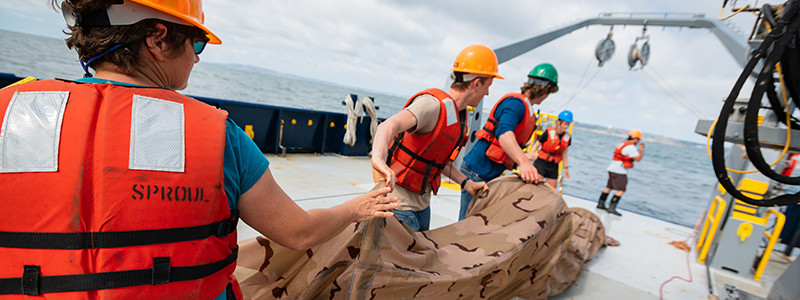
[[[82,77],[77,54],[63,40],[0,30],[0,72],[20,77]],[[187,95],[346,113],[341,104],[348,94],[372,96],[386,118],[398,112],[404,97],[366,88],[278,74],[248,66],[201,62],[195,65]],[[410,96],[410,95],[407,95]],[[407,97],[406,96],[406,97]],[[644,133],[645,156],[628,174],[628,190],[619,208],[670,222],[694,226],[706,209],[716,185],[711,160],[704,145]],[[608,178],[614,146],[625,137],[602,127],[576,123],[569,150],[572,178],[564,182],[564,193],[596,200]],[[368,170],[365,170],[368,172]],[[610,197],[609,197],[610,198]]]

